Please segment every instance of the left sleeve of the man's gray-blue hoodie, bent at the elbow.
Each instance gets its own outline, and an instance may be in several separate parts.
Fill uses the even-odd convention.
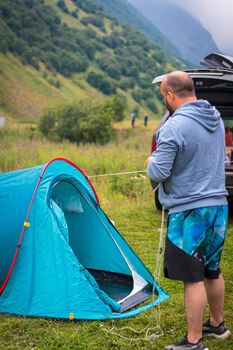
[[[172,122],[167,122],[157,135],[157,149],[152,153],[147,173],[151,180],[164,182],[172,172],[174,159],[179,150],[179,132]]]

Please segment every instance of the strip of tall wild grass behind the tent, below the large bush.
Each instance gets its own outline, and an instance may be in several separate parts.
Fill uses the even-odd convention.
[[[118,129],[114,140],[106,146],[75,145],[67,141],[52,143],[42,138],[36,126],[2,128],[0,171],[27,168],[55,157],[71,159],[89,175],[145,168],[154,129],[152,125],[149,130],[143,128],[142,122],[132,130]]]

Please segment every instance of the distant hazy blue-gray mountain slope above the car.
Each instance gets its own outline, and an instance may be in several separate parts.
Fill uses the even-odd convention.
[[[129,0],[182,54],[199,65],[211,52],[219,52],[210,33],[187,11],[169,0]]]

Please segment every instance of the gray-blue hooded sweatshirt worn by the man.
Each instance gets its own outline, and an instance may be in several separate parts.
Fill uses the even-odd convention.
[[[157,133],[149,177],[169,213],[227,204],[224,124],[208,101],[180,106]]]

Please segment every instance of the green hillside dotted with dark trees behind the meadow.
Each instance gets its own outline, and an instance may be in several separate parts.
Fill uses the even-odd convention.
[[[13,116],[87,95],[156,113],[153,77],[182,67],[89,0],[0,2],[0,53],[0,111]]]

